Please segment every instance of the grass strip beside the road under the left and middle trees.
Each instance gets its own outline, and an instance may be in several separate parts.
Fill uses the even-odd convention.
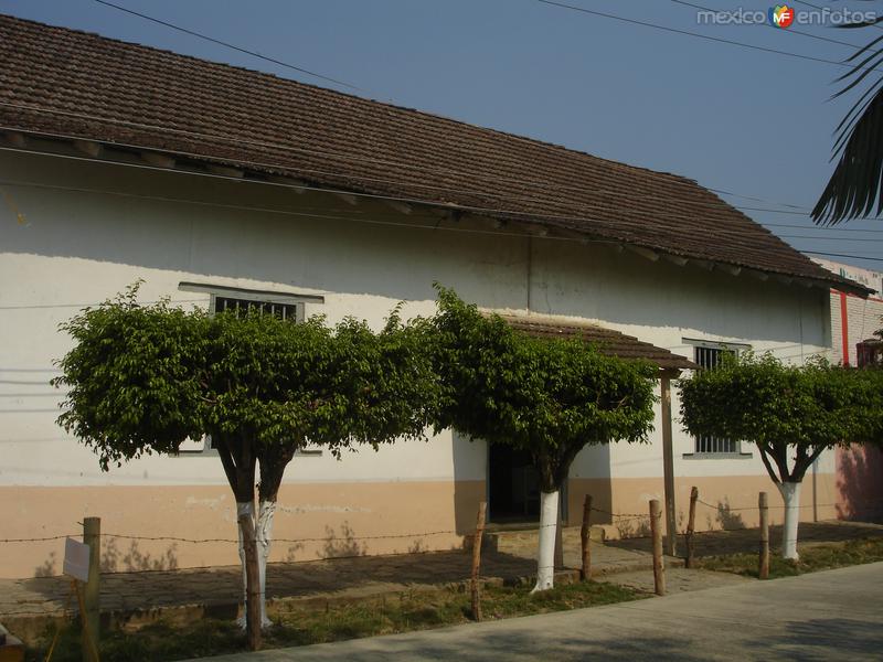
[[[526,587],[486,587],[482,609],[486,620],[582,609],[646,597],[628,588],[594,581],[568,584],[531,595]],[[326,609],[270,610],[274,627],[264,632],[264,648],[308,645],[377,634],[392,634],[456,626],[471,620],[469,596],[462,591],[402,594],[380,600],[329,606]],[[54,632],[29,649],[26,660],[42,661]],[[103,662],[164,662],[220,655],[246,650],[245,636],[232,621],[204,619],[189,626],[166,622],[135,632],[103,634]],[[53,662],[78,662],[79,634],[64,629]]]

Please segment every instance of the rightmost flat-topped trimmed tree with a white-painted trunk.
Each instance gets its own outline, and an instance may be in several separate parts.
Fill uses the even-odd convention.
[[[785,504],[783,557],[798,558],[807,469],[829,448],[879,438],[880,374],[821,360],[786,365],[768,353],[746,353],[680,381],[681,415],[690,434],[757,446]]]

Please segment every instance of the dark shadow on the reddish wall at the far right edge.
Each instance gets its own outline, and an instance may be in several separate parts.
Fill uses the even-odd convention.
[[[837,516],[883,523],[883,449],[853,445],[837,450]]]

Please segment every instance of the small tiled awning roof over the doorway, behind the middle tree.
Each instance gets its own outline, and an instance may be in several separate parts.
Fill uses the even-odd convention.
[[[661,369],[699,367],[683,356],[672,354],[670,351],[658,348],[613,329],[605,329],[597,324],[564,322],[551,319],[538,319],[517,316],[500,316],[517,331],[528,333],[535,338],[577,338],[597,345],[603,354],[619,356],[620,359],[646,359]]]

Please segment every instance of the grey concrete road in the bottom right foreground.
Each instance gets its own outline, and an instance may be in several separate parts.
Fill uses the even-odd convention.
[[[883,660],[883,563],[212,661],[536,659]]]

